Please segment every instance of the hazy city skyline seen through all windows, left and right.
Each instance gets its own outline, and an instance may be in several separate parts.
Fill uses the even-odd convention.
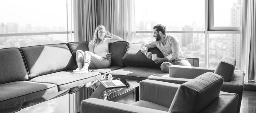
[[[139,0],[138,0],[139,1]],[[241,2],[241,0],[238,0]],[[204,2],[203,2],[204,3]],[[202,8],[202,7],[201,7]],[[204,8],[204,6],[203,6]],[[136,30],[153,30],[153,26],[158,24],[152,15],[150,8],[143,9],[147,11],[144,15],[139,16],[136,20]],[[199,8],[200,9],[200,8]],[[241,20],[241,5],[234,5],[229,9],[230,12],[230,25],[240,26]],[[203,9],[204,11],[204,9]],[[157,17],[157,16],[153,16]],[[204,18],[204,14],[202,16]],[[141,19],[141,20],[140,20]],[[153,20],[153,21],[152,21]],[[55,32],[66,31],[66,24],[64,26],[37,26],[32,23],[20,24],[15,22],[2,22],[0,20],[0,33],[27,33],[27,32]],[[204,21],[198,24],[198,20],[191,19],[183,24],[164,24],[167,30],[180,30],[180,31],[204,31]],[[199,67],[205,66],[205,36],[204,34],[197,33],[175,33],[180,41],[181,49],[186,57],[198,57]],[[37,41],[35,41],[37,40]],[[153,33],[136,33],[136,37],[129,40],[133,43],[145,44],[155,40]],[[0,38],[0,48],[5,47],[20,47],[20,46],[33,46],[42,44],[65,43],[67,42],[66,35],[39,35],[39,36],[11,36]],[[209,67],[216,67],[219,60],[223,56],[234,57],[237,59],[236,69],[240,69],[240,54],[241,54],[241,34],[209,34]]]

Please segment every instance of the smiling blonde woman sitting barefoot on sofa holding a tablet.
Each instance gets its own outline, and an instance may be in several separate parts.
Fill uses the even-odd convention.
[[[106,38],[109,36],[111,38]],[[94,31],[93,40],[88,44],[89,51],[83,52],[77,50],[76,61],[78,68],[72,72],[72,74],[88,73],[89,68],[107,68],[111,64],[111,55],[109,53],[109,44],[123,39],[115,36],[108,31],[102,25],[97,26]]]

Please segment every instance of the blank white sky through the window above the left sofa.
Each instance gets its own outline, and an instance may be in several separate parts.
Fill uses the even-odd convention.
[[[0,0],[0,23],[63,26],[66,10],[66,0]]]

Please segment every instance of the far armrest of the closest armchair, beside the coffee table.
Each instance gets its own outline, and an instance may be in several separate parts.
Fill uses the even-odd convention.
[[[169,108],[178,87],[180,87],[179,84],[148,79],[143,80],[140,82],[140,100],[153,102]]]

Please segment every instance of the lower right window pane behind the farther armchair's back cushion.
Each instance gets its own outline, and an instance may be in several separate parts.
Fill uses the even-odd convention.
[[[209,67],[217,67],[222,57],[236,59],[236,70],[241,70],[241,34],[209,34]]]

